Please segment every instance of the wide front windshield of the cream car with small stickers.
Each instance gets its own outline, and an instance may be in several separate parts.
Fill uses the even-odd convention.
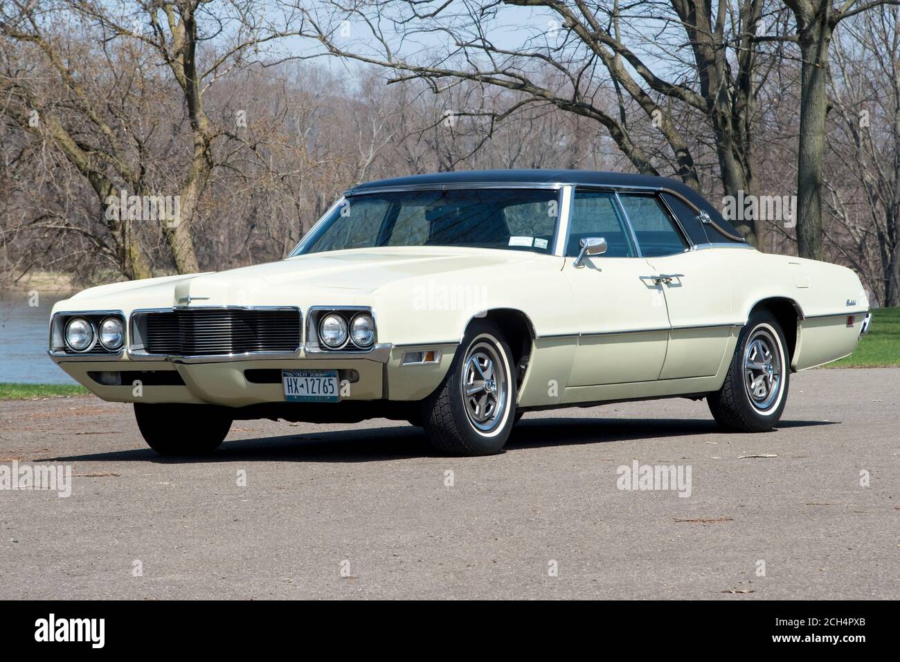
[[[553,252],[558,192],[470,189],[353,195],[292,255],[379,246],[470,246]]]

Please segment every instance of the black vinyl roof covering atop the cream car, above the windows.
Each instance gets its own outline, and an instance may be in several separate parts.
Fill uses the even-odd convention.
[[[722,218],[716,208],[692,189],[688,184],[669,177],[655,177],[649,174],[614,173],[599,170],[566,169],[518,169],[518,170],[456,170],[449,173],[410,174],[405,177],[379,179],[374,182],[356,184],[347,194],[365,192],[369,189],[403,186],[440,186],[441,184],[484,184],[484,183],[572,183],[615,186],[621,188],[648,187],[669,189],[680,193],[699,210],[706,210],[717,223],[730,231],[737,230]]]

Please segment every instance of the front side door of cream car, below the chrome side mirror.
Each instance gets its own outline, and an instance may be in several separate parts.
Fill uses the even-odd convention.
[[[581,238],[603,237],[607,251],[574,263]],[[647,276],[614,192],[576,189],[569,217],[563,274],[577,307],[578,347],[570,387],[659,378],[666,356],[669,318],[662,284]]]

